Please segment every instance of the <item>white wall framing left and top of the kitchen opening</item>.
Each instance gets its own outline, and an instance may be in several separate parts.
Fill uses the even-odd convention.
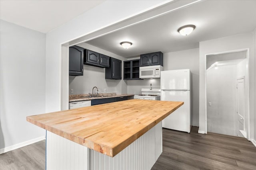
[[[152,9],[165,1],[105,1],[46,34],[46,112],[61,106],[60,44]],[[110,12],[111,11],[111,12]],[[104,15],[102,15],[104,14]],[[124,82],[120,82],[123,84]],[[122,87],[122,86],[121,86]],[[122,92],[125,92],[122,88]]]

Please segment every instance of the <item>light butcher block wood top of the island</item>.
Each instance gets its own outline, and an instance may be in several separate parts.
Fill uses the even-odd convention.
[[[183,104],[132,99],[28,116],[27,121],[114,157]]]

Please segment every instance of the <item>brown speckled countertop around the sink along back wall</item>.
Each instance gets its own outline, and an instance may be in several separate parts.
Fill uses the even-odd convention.
[[[100,93],[98,97],[89,98],[88,94],[76,94],[69,96],[69,102],[78,102],[84,100],[104,99],[104,98],[116,98],[124,96],[134,96],[134,94],[116,94],[116,93]]]

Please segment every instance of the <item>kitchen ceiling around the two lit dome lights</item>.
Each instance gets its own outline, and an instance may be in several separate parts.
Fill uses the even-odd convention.
[[[253,31],[255,18],[256,0],[207,0],[86,43],[127,58],[155,51],[167,53],[197,48],[200,41]],[[188,36],[180,35],[177,29],[188,24],[196,29]],[[122,41],[133,45],[123,49]]]

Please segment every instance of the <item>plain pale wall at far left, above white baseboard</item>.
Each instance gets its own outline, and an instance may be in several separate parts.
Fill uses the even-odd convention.
[[[0,148],[45,135],[26,116],[45,113],[46,35],[0,20]]]

